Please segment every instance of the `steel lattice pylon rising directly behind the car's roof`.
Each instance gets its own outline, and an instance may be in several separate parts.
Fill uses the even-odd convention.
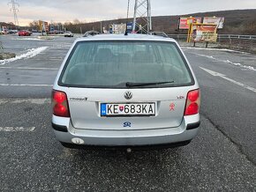
[[[141,33],[152,31],[150,0],[135,0],[132,33],[138,31]]]

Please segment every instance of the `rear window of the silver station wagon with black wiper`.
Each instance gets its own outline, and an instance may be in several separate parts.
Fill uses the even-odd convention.
[[[58,85],[127,88],[192,85],[184,56],[172,42],[82,41],[72,49]]]

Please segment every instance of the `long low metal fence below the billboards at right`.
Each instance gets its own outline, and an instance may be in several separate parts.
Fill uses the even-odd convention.
[[[181,45],[194,46],[187,43],[187,34],[168,34],[170,38],[177,40]],[[197,42],[196,47],[205,47],[206,42]],[[210,48],[231,48],[256,53],[256,35],[218,34],[217,41],[208,43]]]

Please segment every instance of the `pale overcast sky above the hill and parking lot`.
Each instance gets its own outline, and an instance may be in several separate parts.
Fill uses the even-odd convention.
[[[130,0],[129,16],[133,15],[134,1]],[[11,0],[0,1],[0,21],[14,22],[10,11]],[[128,0],[17,0],[19,25],[33,20],[65,22],[98,21],[125,18]],[[256,9],[256,0],[151,0],[152,16],[182,15],[204,11]]]

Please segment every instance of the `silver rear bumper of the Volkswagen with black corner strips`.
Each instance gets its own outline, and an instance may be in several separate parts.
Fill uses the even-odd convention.
[[[194,120],[197,120],[194,122]],[[75,129],[69,118],[54,116],[53,128],[57,140],[65,144],[95,146],[143,146],[177,144],[192,140],[199,131],[200,115],[185,116],[177,128],[139,130]],[[66,129],[65,129],[66,128]]]

